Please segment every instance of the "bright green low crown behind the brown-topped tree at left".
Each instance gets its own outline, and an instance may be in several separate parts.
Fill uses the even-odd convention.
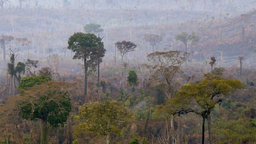
[[[43,82],[52,81],[50,77],[47,76],[31,76],[31,77],[23,77],[20,80],[20,84],[18,86],[19,89],[26,89],[28,87],[33,87],[34,85],[42,84]]]

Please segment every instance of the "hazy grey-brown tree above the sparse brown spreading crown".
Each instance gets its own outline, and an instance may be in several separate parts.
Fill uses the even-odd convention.
[[[158,45],[163,41],[163,37],[156,34],[146,34],[143,39],[149,42],[153,46],[153,52],[155,52],[154,47],[156,46],[156,51],[158,50]]]

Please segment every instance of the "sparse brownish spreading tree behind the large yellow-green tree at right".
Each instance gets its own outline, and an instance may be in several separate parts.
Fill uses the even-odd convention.
[[[187,60],[188,53],[180,51],[153,52],[148,54],[150,65],[145,64],[146,68],[152,73],[151,78],[164,88],[168,98],[173,98],[179,82],[175,79],[181,73],[180,66]],[[171,128],[174,128],[173,116],[171,116]]]

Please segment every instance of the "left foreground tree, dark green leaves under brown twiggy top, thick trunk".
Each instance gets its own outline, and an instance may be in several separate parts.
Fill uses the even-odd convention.
[[[49,81],[20,89],[19,113],[23,119],[41,120],[41,144],[49,143],[50,126],[64,126],[68,119],[71,111],[69,86],[69,83]]]

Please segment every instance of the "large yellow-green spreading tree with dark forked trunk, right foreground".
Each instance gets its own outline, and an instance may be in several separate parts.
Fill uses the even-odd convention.
[[[172,115],[194,112],[203,117],[202,143],[204,143],[204,121],[207,119],[209,142],[212,141],[211,112],[222,98],[243,88],[237,79],[225,79],[219,75],[204,74],[200,83],[184,84],[173,99],[167,100],[165,109]]]

